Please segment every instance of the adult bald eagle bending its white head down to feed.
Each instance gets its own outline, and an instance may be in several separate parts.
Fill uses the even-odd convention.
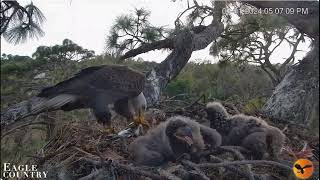
[[[99,123],[111,128],[108,105],[136,123],[145,124],[143,95],[145,75],[127,66],[103,65],[81,70],[74,77],[43,89],[37,96],[46,100],[35,107],[64,110],[91,108]]]

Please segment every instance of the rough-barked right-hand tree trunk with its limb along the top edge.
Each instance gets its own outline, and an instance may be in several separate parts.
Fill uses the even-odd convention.
[[[312,50],[278,84],[263,108],[267,117],[308,125],[319,124],[319,2],[247,1],[257,8],[288,8],[283,13],[292,25],[314,41]],[[298,9],[308,13],[298,13]],[[319,133],[319,129],[317,129]]]

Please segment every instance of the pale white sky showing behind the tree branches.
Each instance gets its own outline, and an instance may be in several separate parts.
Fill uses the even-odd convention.
[[[199,2],[209,0],[199,0]],[[21,5],[30,0],[18,0]],[[1,53],[31,56],[41,45],[53,46],[62,44],[66,38],[83,48],[94,50],[96,54],[104,51],[106,36],[114,20],[121,14],[128,14],[134,8],[146,8],[151,11],[150,22],[157,26],[174,27],[178,13],[186,7],[186,1],[171,0],[33,0],[43,12],[46,22],[43,25],[45,36],[40,39],[28,40],[26,43],[8,44],[1,38]],[[296,59],[301,59],[308,51],[309,43],[300,44]],[[288,45],[281,45],[271,57],[273,63],[283,62],[290,54]],[[137,56],[147,61],[161,62],[169,52],[152,51]],[[202,59],[217,62],[209,55],[209,46],[192,54],[191,60]]]

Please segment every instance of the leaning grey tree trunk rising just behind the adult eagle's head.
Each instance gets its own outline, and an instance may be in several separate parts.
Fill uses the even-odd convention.
[[[161,92],[189,61],[193,51],[206,48],[223,32],[223,24],[214,22],[199,34],[185,30],[174,38],[174,48],[169,56],[147,74],[144,90],[148,106],[159,101]]]

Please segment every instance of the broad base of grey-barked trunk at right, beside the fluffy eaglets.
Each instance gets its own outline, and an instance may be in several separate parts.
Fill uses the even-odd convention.
[[[319,48],[307,56],[284,77],[263,108],[273,119],[311,125],[319,121]]]

